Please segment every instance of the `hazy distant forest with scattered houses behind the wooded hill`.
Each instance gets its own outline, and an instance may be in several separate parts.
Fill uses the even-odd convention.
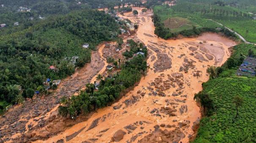
[[[139,0],[1,0],[0,24],[14,27],[14,22],[19,22],[16,29],[24,29],[32,24],[41,22],[49,16],[64,15],[72,11],[88,10],[94,8],[114,8],[116,5],[142,5]],[[20,11],[22,8],[30,9]]]

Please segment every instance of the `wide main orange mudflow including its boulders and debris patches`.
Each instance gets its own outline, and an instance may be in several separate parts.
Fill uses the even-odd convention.
[[[139,23],[134,39],[148,46],[147,75],[115,104],[99,109],[88,119],[47,140],[36,140],[37,143],[108,143],[111,140],[187,143],[193,137],[201,117],[194,94],[209,79],[207,67],[222,65],[230,57],[229,48],[236,43],[213,33],[163,40],[154,35],[152,13],[142,14],[142,8],[133,9],[139,11],[138,16],[130,12],[123,17]]]

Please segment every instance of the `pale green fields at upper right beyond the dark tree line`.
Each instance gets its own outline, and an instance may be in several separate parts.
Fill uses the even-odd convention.
[[[220,27],[217,23],[209,20],[213,19],[231,29],[233,28],[249,42],[256,43],[256,20],[252,20],[252,15],[244,7],[214,5],[212,4],[214,0],[204,2],[205,0],[178,0],[177,4],[172,7],[167,5],[155,6],[154,13],[160,16],[162,22],[170,28],[171,32],[190,30],[193,25],[196,27]],[[248,8],[252,7],[254,6],[251,5]],[[186,25],[182,25],[177,20],[177,22],[173,21],[169,24],[169,19],[177,19],[177,17],[179,19],[184,18],[193,24],[189,25],[185,22]],[[179,27],[176,27],[177,24]]]

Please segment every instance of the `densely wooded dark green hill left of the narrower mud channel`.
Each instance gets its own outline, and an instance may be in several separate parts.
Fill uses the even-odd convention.
[[[25,30],[0,36],[0,101],[18,103],[43,91],[47,78],[61,79],[91,60],[91,49],[113,40],[118,24],[104,11],[51,16]],[[89,49],[82,48],[89,43]],[[72,62],[72,57],[78,57]],[[55,70],[50,70],[50,65]],[[21,96],[22,95],[22,96]]]

